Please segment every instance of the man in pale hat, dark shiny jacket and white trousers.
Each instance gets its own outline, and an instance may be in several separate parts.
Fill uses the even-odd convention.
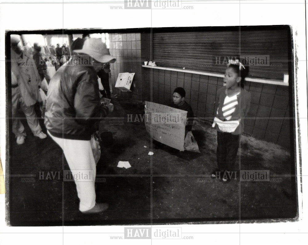
[[[51,78],[45,125],[48,134],[63,149],[80,199],[79,210],[93,214],[106,210],[108,204],[95,202],[96,164],[90,143],[95,129],[92,126],[113,110],[112,104],[106,107],[100,103],[97,71],[103,63],[115,62],[115,58],[101,39],[87,39],[80,44],[83,45],[75,47],[77,55]]]

